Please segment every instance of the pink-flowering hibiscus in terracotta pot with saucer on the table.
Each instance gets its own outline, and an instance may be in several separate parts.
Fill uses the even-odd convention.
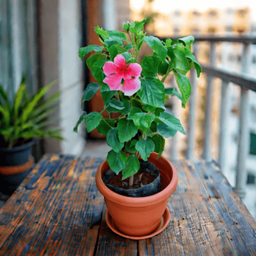
[[[86,63],[98,81],[87,86],[82,105],[100,90],[102,112],[107,111],[109,118],[104,119],[102,112],[84,112],[74,127],[76,132],[85,120],[88,132],[96,128],[106,135],[112,150],[98,168],[96,185],[105,197],[108,226],[132,239],[151,237],[168,224],[166,204],[177,187],[177,172],[161,154],[165,138],[184,130],[179,119],[165,112],[165,100],[177,96],[185,107],[191,93],[186,74],[196,68],[199,77],[202,69],[191,52],[192,36],[161,41],[146,35],[145,22],[124,23],[125,32],[98,26],[95,32],[102,46],[80,48],[80,59],[93,52]],[[139,62],[143,43],[152,49],[152,55]],[[163,84],[171,72],[179,91]],[[119,116],[112,118],[113,112]],[[149,182],[143,183],[143,179]]]

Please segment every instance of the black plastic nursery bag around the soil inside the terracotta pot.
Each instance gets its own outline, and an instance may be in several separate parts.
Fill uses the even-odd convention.
[[[112,185],[109,185],[108,182],[112,177],[116,176],[116,173],[112,171],[112,169],[109,169],[104,173],[104,176],[102,177],[103,182],[105,185],[115,193],[121,194],[122,196],[129,196],[129,197],[145,197],[145,196],[152,196],[153,194],[157,194],[160,192],[160,172],[157,168],[157,166],[154,165],[154,163],[151,162],[144,162],[143,160],[140,161],[140,170],[144,172],[148,172],[152,176],[156,177],[154,182],[149,183],[148,185],[144,185],[140,188],[135,189],[124,189],[124,188],[116,188]]]

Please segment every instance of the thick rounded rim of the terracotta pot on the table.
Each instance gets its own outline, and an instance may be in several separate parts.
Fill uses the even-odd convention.
[[[146,207],[151,204],[157,204],[158,202],[164,201],[167,199],[175,190],[178,184],[178,176],[176,168],[172,165],[169,160],[167,160],[164,157],[158,157],[158,154],[155,152],[152,152],[150,155],[150,158],[154,158],[157,161],[162,162],[165,167],[169,167],[172,169],[172,179],[171,182],[168,184],[166,188],[164,188],[162,191],[160,191],[157,194],[153,194],[152,196],[145,196],[145,197],[129,197],[129,196],[123,196],[121,194],[117,194],[110,190],[103,182],[101,177],[101,168],[103,165],[106,165],[107,159],[105,158],[104,161],[99,165],[98,170],[96,172],[96,186],[98,190],[101,192],[101,194],[104,197],[110,197],[111,201],[115,202],[116,204],[121,204],[124,206],[129,206],[130,204],[133,204],[137,207]]]

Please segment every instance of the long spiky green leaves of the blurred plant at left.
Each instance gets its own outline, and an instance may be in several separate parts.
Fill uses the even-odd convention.
[[[0,85],[0,148],[13,148],[33,138],[52,137],[63,140],[59,127],[48,128],[57,118],[47,119],[59,103],[60,91],[43,101],[54,82],[41,88],[31,98],[23,78],[13,102]]]

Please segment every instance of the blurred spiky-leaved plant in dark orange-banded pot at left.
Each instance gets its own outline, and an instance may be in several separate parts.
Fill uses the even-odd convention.
[[[13,101],[0,85],[0,191],[12,194],[34,164],[32,145],[35,138],[62,140],[61,129],[46,129],[54,119],[46,119],[59,102],[60,91],[43,101],[54,83],[41,88],[31,98],[23,78]]]

